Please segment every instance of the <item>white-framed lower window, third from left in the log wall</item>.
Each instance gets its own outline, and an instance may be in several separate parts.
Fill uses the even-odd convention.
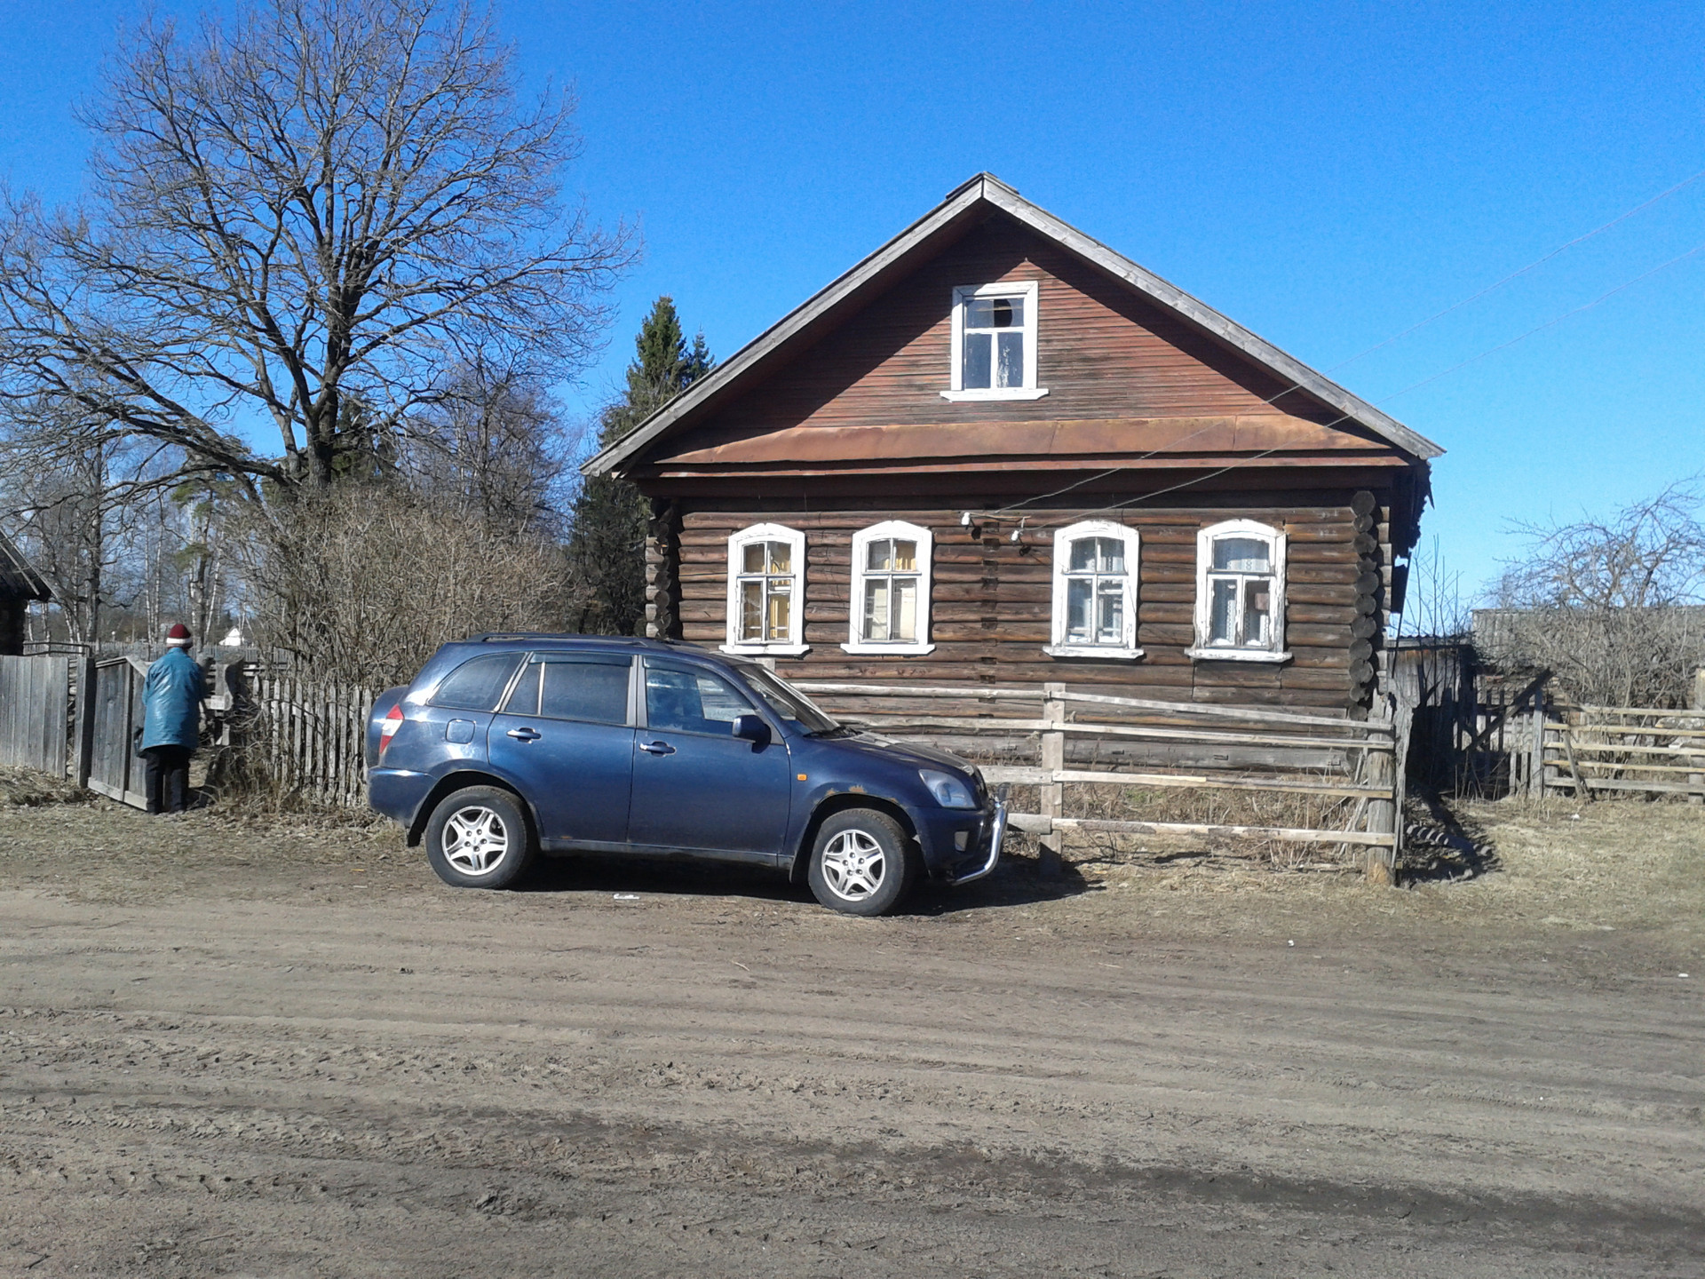
[[[1054,534],[1052,657],[1139,658],[1137,530],[1083,520]]]

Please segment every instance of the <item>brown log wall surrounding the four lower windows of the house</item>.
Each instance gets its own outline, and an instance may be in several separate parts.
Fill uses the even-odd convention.
[[[1304,500],[1313,505],[1303,505]],[[788,677],[1004,686],[1064,680],[1091,691],[1182,701],[1350,709],[1357,578],[1366,571],[1350,495],[1246,495],[1240,501],[1236,508],[1195,505],[1122,517],[1141,534],[1137,645],[1146,655],[1136,662],[1055,660],[1042,651],[1050,643],[1052,527],[1030,534],[1028,549],[1021,549],[1008,541],[1011,524],[974,539],[960,527],[958,508],[893,506],[892,500],[881,508],[871,501],[832,512],[779,510],[772,503],[757,510],[750,500],[743,508],[737,500],[682,503],[675,561],[679,634],[713,648],[725,643],[728,535],[774,522],[801,530],[806,539],[803,638],[812,650],[800,658],[776,658],[776,670]],[[1033,512],[1032,518],[1062,525],[1088,513],[1049,510]],[[1185,655],[1195,640],[1197,532],[1236,517],[1289,534],[1286,645],[1292,658],[1282,665],[1197,662]],[[847,640],[852,534],[888,518],[921,524],[936,539],[933,653],[866,657],[841,648]],[[1391,563],[1388,518],[1390,512],[1381,508],[1374,554],[1384,564]]]

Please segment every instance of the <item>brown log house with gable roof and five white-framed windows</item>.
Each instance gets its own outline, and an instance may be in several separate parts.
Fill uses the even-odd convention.
[[[585,471],[656,636],[1355,715],[1441,452],[980,174]]]

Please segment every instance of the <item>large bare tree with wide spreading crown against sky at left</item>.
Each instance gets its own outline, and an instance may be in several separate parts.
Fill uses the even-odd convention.
[[[254,0],[147,19],[99,102],[87,205],[0,218],[0,396],[72,404],[251,495],[331,484],[358,401],[385,428],[472,353],[583,367],[634,258],[564,206],[573,101],[517,97],[491,15]],[[280,455],[237,433],[271,421]]]

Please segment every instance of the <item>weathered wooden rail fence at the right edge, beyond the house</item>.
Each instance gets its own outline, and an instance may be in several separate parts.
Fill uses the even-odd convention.
[[[1679,795],[1705,802],[1705,709],[1558,706],[1545,725],[1548,790]]]

